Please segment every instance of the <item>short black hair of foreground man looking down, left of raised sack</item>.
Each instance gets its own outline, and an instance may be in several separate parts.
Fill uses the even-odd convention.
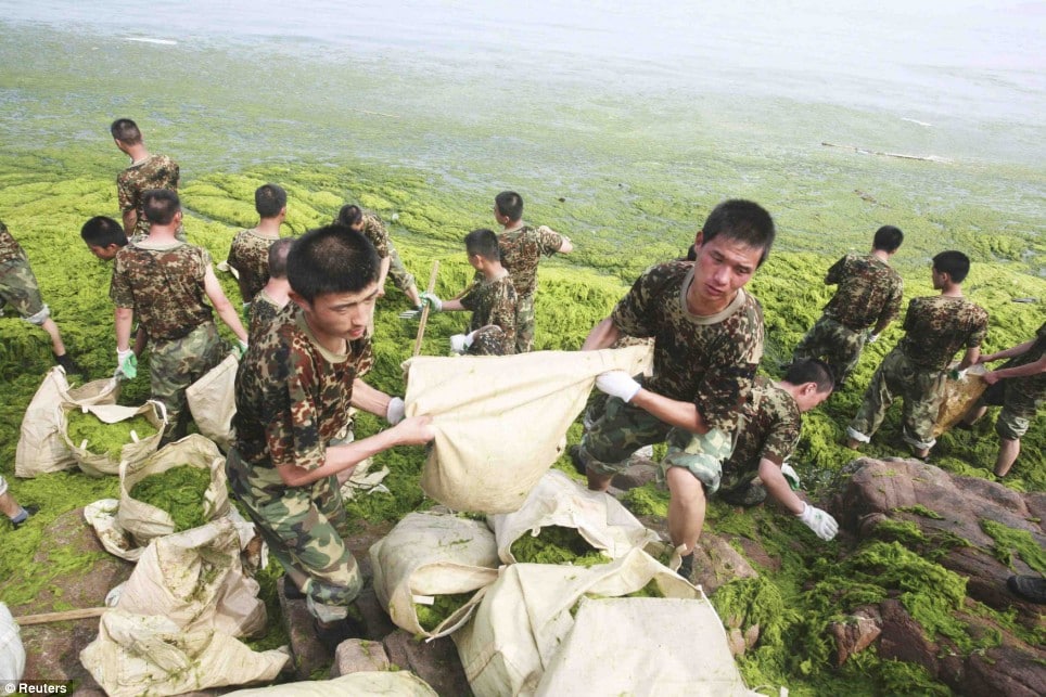
[[[378,281],[381,259],[374,245],[345,225],[309,230],[286,257],[291,288],[307,302],[327,293],[359,293]]]

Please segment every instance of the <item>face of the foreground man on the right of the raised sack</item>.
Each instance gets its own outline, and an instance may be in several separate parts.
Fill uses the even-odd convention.
[[[763,250],[728,237],[694,242],[693,283],[687,291],[687,305],[698,314],[722,312],[737,296],[760,266]]]

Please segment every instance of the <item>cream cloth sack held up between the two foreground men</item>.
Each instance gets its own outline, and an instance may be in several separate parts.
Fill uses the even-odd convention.
[[[431,415],[435,431],[421,488],[455,511],[516,511],[563,453],[596,376],[649,360],[643,346],[408,360],[406,413]]]

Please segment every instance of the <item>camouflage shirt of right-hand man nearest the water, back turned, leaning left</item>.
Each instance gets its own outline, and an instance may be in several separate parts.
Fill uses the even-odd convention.
[[[904,282],[873,255],[847,254],[828,270],[825,283],[839,285],[825,314],[855,332],[884,325],[901,311]]]

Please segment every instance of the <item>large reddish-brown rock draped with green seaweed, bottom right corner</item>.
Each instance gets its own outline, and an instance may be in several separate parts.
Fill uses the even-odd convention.
[[[906,546],[932,554],[937,564],[967,579],[969,599],[956,615],[968,623],[971,634],[1002,636],[1002,646],[962,656],[944,637],[928,636],[900,601],[886,599],[879,605],[880,618],[869,615],[865,632],[868,636],[881,630],[879,655],[918,663],[959,694],[1046,694],[1046,648],[1024,643],[1007,628],[979,616],[973,606],[978,601],[1000,611],[1016,608],[1018,622],[1031,630],[1042,627],[1042,606],[1013,596],[1006,588],[1006,579],[1015,572],[1034,571],[1016,554],[1011,566],[1000,562],[995,540],[981,525],[994,520],[1025,531],[1035,544],[1046,547],[1042,516],[1046,496],[959,477],[915,460],[862,459],[847,469],[852,477],[832,505],[841,514],[840,522],[858,538],[879,535],[879,528],[891,520],[914,524],[926,542],[908,540]],[[871,643],[857,641],[858,633],[843,627],[832,628],[831,633],[840,662],[860,650],[859,645]]]

